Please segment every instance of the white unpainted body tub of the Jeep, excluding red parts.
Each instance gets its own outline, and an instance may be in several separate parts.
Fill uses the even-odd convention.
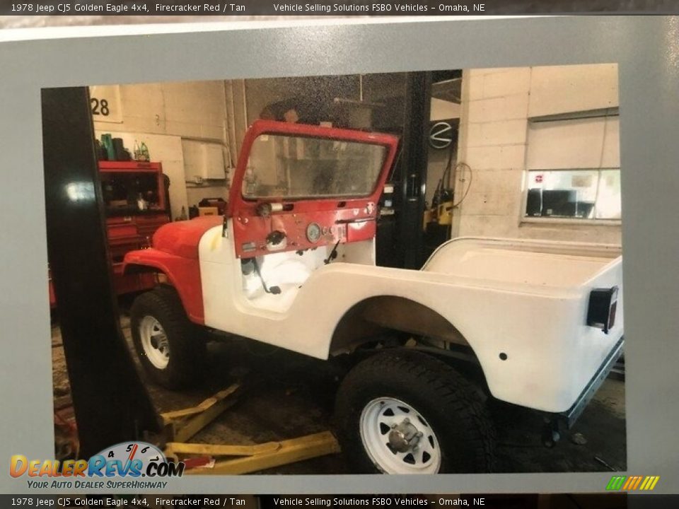
[[[241,275],[232,239],[219,226],[200,241],[205,324],[308,356],[332,353],[337,324],[354,305],[395,296],[457,329],[494,397],[561,412],[622,337],[621,297],[608,334],[586,324],[590,291],[622,288],[616,247],[460,238],[439,247],[419,271],[376,267],[373,241],[347,245],[327,265],[325,251],[284,252],[261,264],[267,285],[282,290],[272,295],[255,274]]]

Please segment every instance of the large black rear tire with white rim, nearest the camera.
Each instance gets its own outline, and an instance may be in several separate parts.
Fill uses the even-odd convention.
[[[358,472],[491,472],[494,428],[479,391],[446,363],[398,349],[362,361],[335,406],[342,450]]]

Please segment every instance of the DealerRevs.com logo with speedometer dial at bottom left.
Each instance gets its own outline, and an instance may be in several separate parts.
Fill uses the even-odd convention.
[[[168,483],[161,479],[181,477],[184,468],[183,462],[168,462],[155,445],[126,442],[89,460],[28,460],[13,455],[9,474],[28,477],[29,488],[165,488]]]

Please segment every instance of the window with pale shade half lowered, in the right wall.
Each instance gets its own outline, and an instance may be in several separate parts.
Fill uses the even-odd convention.
[[[526,218],[620,220],[620,117],[605,113],[528,122]]]

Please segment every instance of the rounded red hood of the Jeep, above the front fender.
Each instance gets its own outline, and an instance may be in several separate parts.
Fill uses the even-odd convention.
[[[198,259],[200,238],[210,228],[221,225],[222,221],[221,216],[204,216],[168,223],[158,228],[153,235],[153,247],[168,254]]]

